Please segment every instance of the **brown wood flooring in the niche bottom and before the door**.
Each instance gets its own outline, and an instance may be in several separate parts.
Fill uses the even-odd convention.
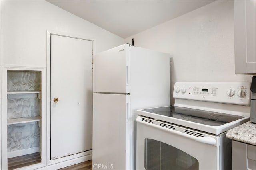
[[[37,164],[41,162],[41,156],[39,152],[33,154],[27,154],[23,156],[17,156],[14,158],[8,158],[8,170],[13,170],[16,168],[21,168],[24,166],[29,166],[32,164]],[[60,170],[92,170],[92,160],[82,162],[80,164],[75,164]]]

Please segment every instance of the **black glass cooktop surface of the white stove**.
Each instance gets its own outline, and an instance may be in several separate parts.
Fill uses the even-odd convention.
[[[155,113],[158,115],[163,115],[167,117],[173,117],[176,119],[182,119],[186,121],[192,121],[195,123],[200,123],[210,126],[220,126],[244,117],[237,115],[229,115],[224,113],[216,113],[211,111],[204,111],[198,109],[191,109],[186,107],[178,106],[167,106],[158,107],[152,109],[143,109],[142,111]]]

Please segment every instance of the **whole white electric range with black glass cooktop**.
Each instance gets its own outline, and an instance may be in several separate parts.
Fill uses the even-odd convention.
[[[250,117],[250,83],[177,82],[174,106],[140,109],[137,169],[231,170],[226,131]]]

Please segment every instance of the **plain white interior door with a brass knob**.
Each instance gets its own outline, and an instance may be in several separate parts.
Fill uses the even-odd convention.
[[[92,41],[51,35],[51,160],[91,149]]]

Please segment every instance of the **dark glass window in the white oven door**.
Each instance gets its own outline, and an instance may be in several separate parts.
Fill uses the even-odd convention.
[[[198,160],[180,149],[154,139],[145,139],[146,170],[198,170]]]

